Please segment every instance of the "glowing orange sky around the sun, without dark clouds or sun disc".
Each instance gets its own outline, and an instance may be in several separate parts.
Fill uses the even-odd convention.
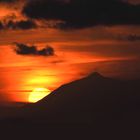
[[[12,14],[16,15],[14,20],[26,19],[20,14],[20,8],[0,5],[0,13],[0,20],[7,19],[7,16],[11,18]],[[139,37],[140,27],[1,30],[0,102],[28,102],[29,95],[36,88],[53,91],[94,71],[118,78],[140,77],[140,40],[130,41],[129,35]],[[37,45],[38,48],[50,45],[55,55],[17,55],[13,42]]]

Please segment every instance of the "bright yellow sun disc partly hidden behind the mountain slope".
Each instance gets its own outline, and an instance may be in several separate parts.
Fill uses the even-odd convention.
[[[29,102],[36,103],[37,101],[41,100],[45,96],[50,94],[50,90],[47,88],[35,88],[29,95]]]

